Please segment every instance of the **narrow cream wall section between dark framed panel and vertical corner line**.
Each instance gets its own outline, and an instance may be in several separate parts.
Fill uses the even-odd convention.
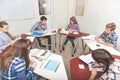
[[[53,27],[66,27],[68,24],[68,0],[54,0]]]

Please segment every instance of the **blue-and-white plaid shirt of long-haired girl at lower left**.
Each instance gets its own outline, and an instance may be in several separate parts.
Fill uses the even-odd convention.
[[[2,80],[31,80],[33,68],[26,71],[25,61],[23,58],[15,57],[10,61],[8,71],[1,70]]]

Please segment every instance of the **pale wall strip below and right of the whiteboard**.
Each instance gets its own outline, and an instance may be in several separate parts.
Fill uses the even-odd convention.
[[[9,31],[13,35],[20,35],[22,33],[29,32],[31,27],[36,21],[39,21],[39,12],[38,12],[38,4],[37,0],[32,0],[33,8],[34,8],[34,18],[33,19],[25,19],[25,20],[17,20],[17,21],[7,21],[9,23]]]

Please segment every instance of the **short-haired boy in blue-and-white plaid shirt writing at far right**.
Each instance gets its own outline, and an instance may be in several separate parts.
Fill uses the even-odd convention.
[[[118,39],[115,29],[116,25],[114,23],[109,23],[106,25],[105,31],[100,36],[95,37],[95,39],[98,43],[115,48],[117,46]]]

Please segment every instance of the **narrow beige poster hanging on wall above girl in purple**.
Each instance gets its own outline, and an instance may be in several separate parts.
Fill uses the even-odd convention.
[[[84,15],[84,0],[77,0],[76,1],[76,15],[83,16]]]

